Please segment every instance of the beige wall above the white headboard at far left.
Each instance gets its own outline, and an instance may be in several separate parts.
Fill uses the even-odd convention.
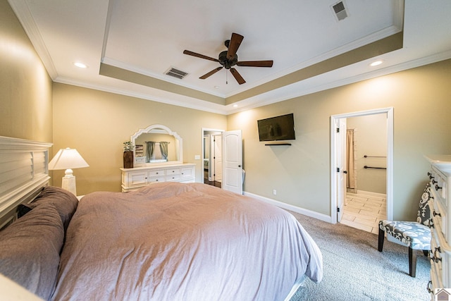
[[[0,135],[52,142],[51,78],[8,1],[0,1]]]

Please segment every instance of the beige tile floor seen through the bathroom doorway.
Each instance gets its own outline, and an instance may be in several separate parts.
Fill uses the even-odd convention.
[[[345,211],[340,223],[378,234],[378,223],[387,219],[386,199],[370,195],[347,193]]]

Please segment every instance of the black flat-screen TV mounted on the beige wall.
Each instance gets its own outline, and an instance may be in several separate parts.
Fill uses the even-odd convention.
[[[271,117],[257,121],[260,141],[295,140],[293,114]]]

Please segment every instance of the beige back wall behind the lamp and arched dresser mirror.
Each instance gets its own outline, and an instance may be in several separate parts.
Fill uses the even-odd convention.
[[[140,128],[166,125],[183,138],[183,161],[196,163],[202,182],[202,127],[226,129],[226,116],[54,83],[54,149],[72,147],[89,164],[74,170],[78,195],[121,191],[123,142]],[[61,185],[63,171],[54,171]]]

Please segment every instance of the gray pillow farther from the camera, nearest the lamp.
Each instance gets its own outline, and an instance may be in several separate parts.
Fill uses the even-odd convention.
[[[56,186],[47,186],[39,193],[33,202],[26,206],[35,208],[39,204],[54,205],[56,211],[58,211],[58,214],[61,216],[64,231],[66,232],[70,219],[72,219],[72,216],[77,209],[78,199],[72,192],[68,192],[68,190]]]

